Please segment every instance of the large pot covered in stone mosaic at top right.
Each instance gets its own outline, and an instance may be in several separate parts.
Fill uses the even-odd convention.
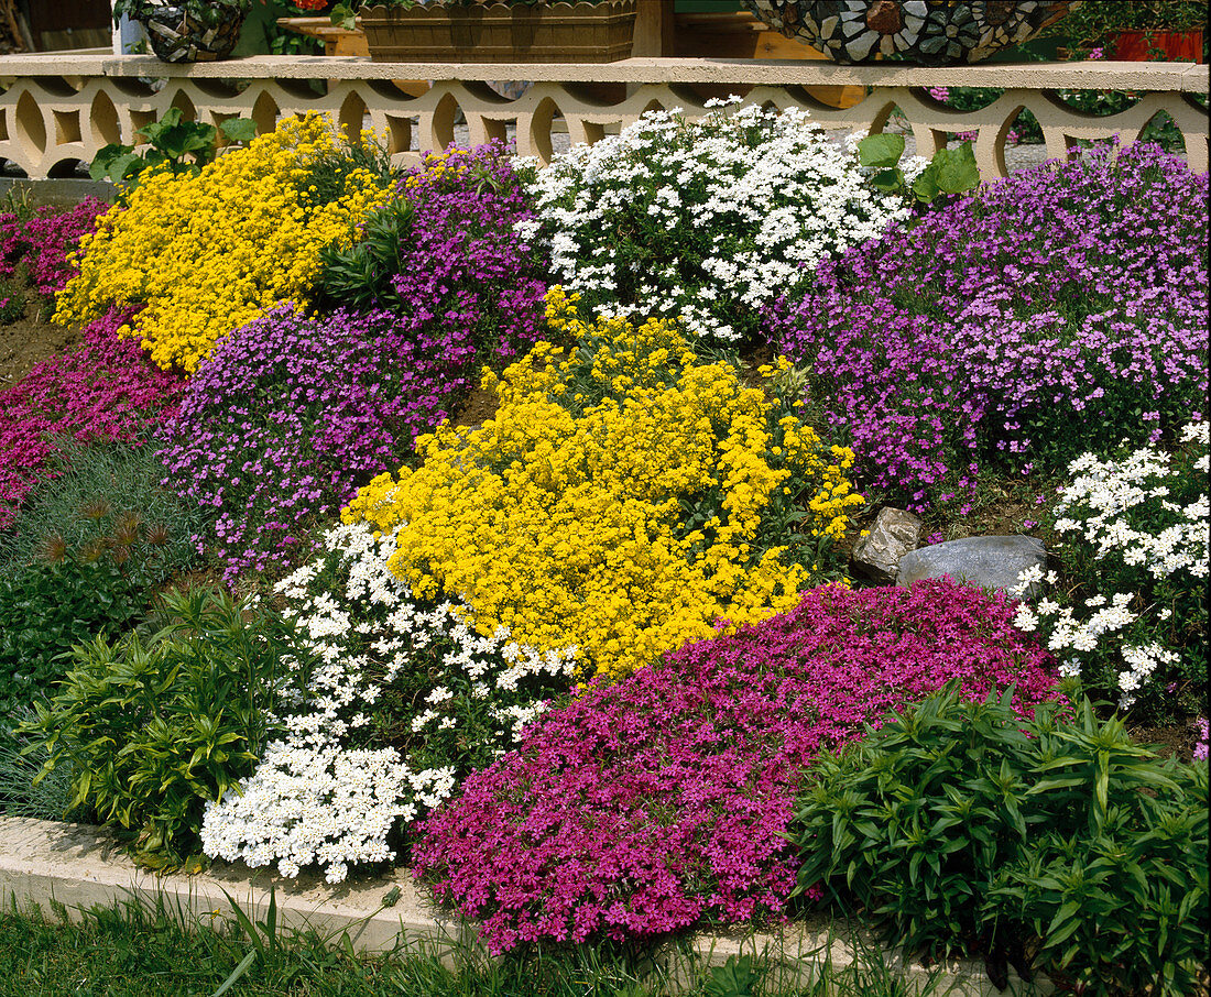
[[[920,65],[957,65],[1029,41],[1081,0],[740,0],[787,38],[838,63],[899,56]]]

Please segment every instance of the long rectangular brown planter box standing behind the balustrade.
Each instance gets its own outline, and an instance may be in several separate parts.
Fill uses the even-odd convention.
[[[374,62],[603,63],[630,58],[637,0],[363,8]]]

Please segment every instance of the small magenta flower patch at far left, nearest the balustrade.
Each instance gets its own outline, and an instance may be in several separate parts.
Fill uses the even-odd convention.
[[[97,217],[109,204],[86,197],[71,208],[39,207],[31,218],[13,212],[0,214],[0,276],[8,276],[25,261],[30,284],[39,294],[51,295],[67,287],[75,266],[68,261],[80,242],[91,232]]]

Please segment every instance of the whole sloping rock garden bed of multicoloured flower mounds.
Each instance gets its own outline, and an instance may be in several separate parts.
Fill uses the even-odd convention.
[[[823,914],[1206,991],[1206,174],[246,138],[0,214],[0,812],[506,961]]]

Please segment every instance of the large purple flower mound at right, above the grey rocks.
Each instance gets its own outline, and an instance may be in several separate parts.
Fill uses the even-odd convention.
[[[825,263],[768,332],[868,484],[960,503],[983,467],[1055,471],[1201,416],[1206,229],[1207,174],[1107,146]]]

